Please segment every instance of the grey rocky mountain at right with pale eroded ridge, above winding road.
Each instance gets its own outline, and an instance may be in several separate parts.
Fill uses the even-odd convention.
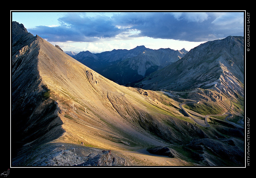
[[[244,37],[228,36],[197,46],[181,60],[135,85],[153,90],[213,88],[227,95],[236,93],[244,97],[243,83]]]

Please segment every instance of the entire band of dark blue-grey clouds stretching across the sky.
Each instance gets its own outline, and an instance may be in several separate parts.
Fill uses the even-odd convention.
[[[137,36],[191,42],[209,41],[229,35],[244,35],[244,12],[121,12],[112,17],[67,13],[60,26],[30,29],[48,41],[90,42],[115,37],[129,30]]]

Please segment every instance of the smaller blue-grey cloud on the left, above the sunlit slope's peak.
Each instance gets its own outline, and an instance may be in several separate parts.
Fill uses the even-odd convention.
[[[120,29],[112,25],[112,20],[106,16],[90,18],[69,12],[58,20],[60,26],[37,26],[29,29],[29,32],[52,42],[91,42],[98,38],[114,37],[121,32]]]

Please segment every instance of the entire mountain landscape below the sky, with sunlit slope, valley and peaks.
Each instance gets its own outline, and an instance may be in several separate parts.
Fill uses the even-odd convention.
[[[12,166],[244,166],[244,37],[60,48],[12,22]]]

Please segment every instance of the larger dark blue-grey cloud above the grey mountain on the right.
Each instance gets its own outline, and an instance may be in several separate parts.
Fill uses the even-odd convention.
[[[116,15],[116,23],[130,24],[140,35],[152,38],[202,42],[244,35],[244,13],[233,12],[128,12]]]

